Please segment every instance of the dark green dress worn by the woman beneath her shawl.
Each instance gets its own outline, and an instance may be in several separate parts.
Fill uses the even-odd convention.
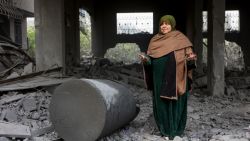
[[[187,121],[187,96],[188,92],[178,97],[178,100],[160,98],[161,85],[169,56],[151,58],[153,73],[153,112],[156,124],[163,136],[170,139],[181,136]]]

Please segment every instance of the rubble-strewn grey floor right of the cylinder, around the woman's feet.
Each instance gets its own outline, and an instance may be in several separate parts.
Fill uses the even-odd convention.
[[[161,141],[152,117],[151,93],[130,87],[141,111],[124,129],[100,141]],[[207,97],[193,92],[188,101],[185,134],[176,141],[249,141],[250,101],[229,97]]]

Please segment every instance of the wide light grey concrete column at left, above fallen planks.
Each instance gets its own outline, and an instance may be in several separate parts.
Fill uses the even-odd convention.
[[[35,0],[37,71],[65,66],[64,0]]]

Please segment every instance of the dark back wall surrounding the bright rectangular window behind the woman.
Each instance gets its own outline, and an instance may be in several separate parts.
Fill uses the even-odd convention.
[[[158,3],[152,1],[119,1],[112,2],[112,4],[104,7],[94,1],[92,8],[89,8],[92,18],[92,51],[94,55],[103,57],[106,50],[115,47],[117,43],[136,43],[141,51],[146,51],[153,34],[117,34],[117,13],[153,12],[154,34],[158,32],[160,17],[165,14],[173,14],[177,20],[177,29],[185,33],[186,18],[181,13],[185,13],[186,7],[178,5],[178,8],[176,8],[172,6],[177,4],[178,2],[165,2],[162,0],[159,0]]]

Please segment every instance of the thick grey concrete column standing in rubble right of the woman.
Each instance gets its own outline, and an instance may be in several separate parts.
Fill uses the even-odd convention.
[[[225,0],[208,1],[208,90],[224,94]]]

